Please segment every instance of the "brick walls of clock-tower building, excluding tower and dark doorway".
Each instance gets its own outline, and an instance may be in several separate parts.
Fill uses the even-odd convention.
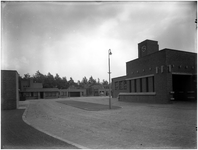
[[[119,95],[121,101],[170,103],[172,98],[170,93],[173,90],[172,75],[175,73],[195,75],[196,62],[195,53],[171,49],[164,49],[129,61],[126,63],[127,70],[124,78],[127,81],[127,89],[120,91],[113,88],[113,96]],[[150,82],[150,76],[154,79],[154,85]],[[112,79],[113,87],[119,80],[123,80],[123,77]],[[136,85],[135,90],[134,85]],[[152,86],[154,90],[150,91]],[[150,92],[151,95],[148,95]]]

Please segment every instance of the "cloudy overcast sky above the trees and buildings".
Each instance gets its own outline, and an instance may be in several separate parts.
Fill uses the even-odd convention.
[[[2,3],[2,69],[82,80],[126,75],[138,43],[196,50],[196,2]]]

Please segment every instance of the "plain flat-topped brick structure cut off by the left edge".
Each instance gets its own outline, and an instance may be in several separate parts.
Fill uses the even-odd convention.
[[[1,70],[1,109],[17,109],[19,101],[18,73]]]

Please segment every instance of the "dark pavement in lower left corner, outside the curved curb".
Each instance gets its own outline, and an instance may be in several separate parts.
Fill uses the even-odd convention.
[[[1,149],[78,149],[26,124],[23,112],[1,111]]]

